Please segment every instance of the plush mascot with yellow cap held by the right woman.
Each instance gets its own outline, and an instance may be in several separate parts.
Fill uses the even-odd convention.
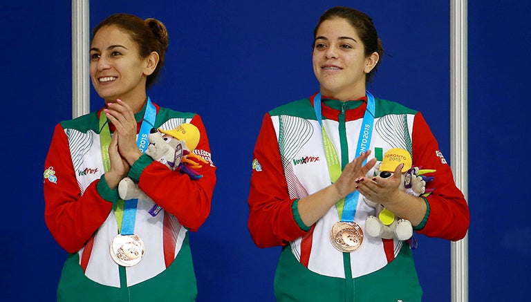
[[[380,167],[375,168],[375,176],[389,178],[399,164],[402,167],[402,181],[400,189],[413,196],[427,196],[434,189],[426,189],[426,182],[433,180],[433,177],[424,176],[425,173],[432,173],[435,170],[412,167],[411,155],[409,152],[394,148],[387,151],[382,159]],[[369,236],[398,240],[407,240],[413,236],[413,227],[409,220],[395,217],[395,215],[386,209],[382,204],[372,202],[364,198],[367,205],[376,209],[376,216],[369,216],[365,220],[365,231]]]

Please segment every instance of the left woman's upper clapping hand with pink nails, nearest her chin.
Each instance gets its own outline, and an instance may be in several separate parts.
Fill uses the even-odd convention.
[[[122,100],[117,100],[115,103],[107,104],[105,114],[114,124],[115,131],[119,134],[118,151],[120,151],[120,155],[127,160],[129,165],[133,165],[142,155],[136,145],[137,124],[133,110]]]

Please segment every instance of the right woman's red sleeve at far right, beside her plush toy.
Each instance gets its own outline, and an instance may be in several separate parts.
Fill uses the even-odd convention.
[[[423,169],[436,169],[434,180],[427,182],[427,189],[435,188],[427,200],[429,216],[425,227],[418,230],[420,234],[447,240],[460,240],[467,234],[469,226],[469,209],[463,193],[456,187],[438,143],[420,113],[415,116],[413,124],[413,165]]]

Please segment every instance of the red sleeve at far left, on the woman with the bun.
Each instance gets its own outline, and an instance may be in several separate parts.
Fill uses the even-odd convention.
[[[77,185],[68,139],[55,126],[44,169],[55,172],[55,182],[44,178],[44,220],[50,233],[66,252],[80,250],[104,223],[112,203],[96,191],[96,180],[82,193]]]

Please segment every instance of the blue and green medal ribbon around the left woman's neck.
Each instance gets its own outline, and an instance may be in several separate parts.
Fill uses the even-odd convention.
[[[144,112],[144,119],[140,125],[140,132],[138,133],[138,138],[136,144],[138,149],[145,153],[149,142],[147,141],[147,136],[149,131],[153,128],[155,124],[155,118],[157,115],[157,110],[155,106],[147,97],[146,110]],[[100,114],[100,144],[102,149],[102,160],[103,167],[105,172],[111,169],[111,160],[109,159],[109,145],[111,144],[111,131],[109,130],[109,123],[107,122],[107,117],[104,112]],[[130,200],[118,200],[115,209],[114,215],[116,217],[116,222],[118,223],[118,231],[122,235],[133,235],[135,228],[135,219],[136,219],[136,207],[138,205],[138,199]]]

